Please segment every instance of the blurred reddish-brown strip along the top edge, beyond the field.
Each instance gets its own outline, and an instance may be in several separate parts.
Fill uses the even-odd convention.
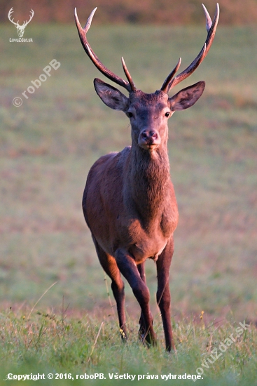
[[[223,25],[256,24],[256,0],[222,0]],[[205,0],[207,8],[215,8],[216,1]],[[197,25],[202,19],[202,6],[199,0],[1,0],[1,22],[6,22],[6,15],[11,7],[22,20],[27,20],[30,8],[35,11],[34,22],[72,23],[74,7],[79,9],[81,17],[87,19],[96,6],[97,21],[95,23],[137,23],[137,24],[185,24]]]

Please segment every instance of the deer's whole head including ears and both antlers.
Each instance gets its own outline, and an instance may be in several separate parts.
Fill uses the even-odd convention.
[[[100,79],[94,80],[95,90],[102,101],[107,106],[111,107],[111,109],[122,110],[127,117],[129,117],[132,126],[132,146],[133,144],[137,144],[139,147],[151,152],[157,149],[163,141],[167,142],[167,119],[169,119],[176,110],[187,109],[188,107],[193,106],[202,95],[205,86],[204,81],[183,88],[183,90],[179,91],[179,93],[176,93],[176,95],[171,98],[169,98],[168,93],[171,88],[186,79],[195,71],[195,69],[197,69],[207,55],[212,41],[214,40],[216,26],[218,24],[218,4],[216,5],[214,22],[211,21],[207,9],[204,6],[203,8],[206,17],[207,39],[204,42],[202,50],[186,69],[175,76],[181,65],[181,58],[179,58],[179,62],[167,76],[167,79],[165,79],[160,90],[155,91],[153,94],[146,94],[137,89],[123,58],[122,65],[127,81],[116,74],[113,74],[113,72],[100,62],[97,55],[92,51],[87,39],[87,32],[88,29],[90,29],[92,18],[97,8],[90,14],[84,28],[81,27],[75,8],[76,26],[85,52],[102,74],[119,86],[125,88],[130,94],[129,98],[127,98],[127,96],[121,93],[117,88],[106,84]]]

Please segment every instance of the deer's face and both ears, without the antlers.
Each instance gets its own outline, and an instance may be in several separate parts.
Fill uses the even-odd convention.
[[[102,101],[111,109],[125,112],[132,127],[132,146],[152,152],[167,143],[167,121],[176,110],[193,106],[204,91],[204,81],[183,88],[172,98],[164,91],[146,94],[135,90],[127,98],[123,93],[104,83],[94,80],[95,90]]]

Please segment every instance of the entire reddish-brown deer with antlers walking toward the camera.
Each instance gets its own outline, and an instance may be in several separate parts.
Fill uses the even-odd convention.
[[[200,53],[182,72],[178,72],[181,58],[167,76],[160,90],[144,93],[139,90],[122,58],[127,80],[114,74],[97,58],[87,32],[95,8],[85,27],[81,27],[75,8],[75,22],[81,44],[99,72],[118,88],[94,79],[97,95],[105,105],[124,112],[130,119],[132,144],[120,152],[103,155],[92,165],[83,192],[83,214],[92,234],[99,262],[111,279],[116,300],[120,336],[127,341],[125,321],[125,285],[121,274],[132,288],[141,308],[139,338],[147,346],[156,345],[153,317],[149,307],[150,293],[146,284],[144,264],[155,262],[157,270],[156,300],[162,317],[165,347],[175,350],[171,323],[171,296],[169,268],[174,253],[174,231],[179,212],[174,186],[169,173],[167,151],[167,121],[175,111],[188,109],[204,91],[205,82],[183,88],[169,97],[171,88],[193,74],[206,57],[214,40],[218,24],[219,7],[212,21],[203,6],[206,17],[207,39]]]

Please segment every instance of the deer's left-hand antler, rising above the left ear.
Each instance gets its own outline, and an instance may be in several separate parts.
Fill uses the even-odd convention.
[[[121,61],[122,61],[122,65],[123,65],[123,70],[125,72],[125,75],[126,75],[128,81],[125,81],[124,79],[120,78],[120,76],[113,74],[113,72],[111,72],[107,67],[105,67],[102,64],[102,62],[100,62],[100,60],[97,58],[97,55],[95,55],[94,51],[92,51],[92,48],[91,48],[90,44],[88,43],[87,32],[88,32],[88,29],[90,29],[90,25],[92,22],[92,18],[95,14],[95,11],[97,11],[97,8],[93,9],[93,11],[89,15],[88,21],[85,23],[85,27],[82,28],[81,23],[78,20],[77,11],[75,8],[75,15],[74,15],[75,16],[75,22],[76,22],[76,26],[78,29],[79,38],[81,39],[81,44],[82,44],[85,52],[88,54],[89,58],[92,60],[95,67],[97,67],[97,69],[99,69],[99,71],[102,72],[102,74],[104,74],[107,78],[111,79],[111,81],[114,81],[119,86],[124,87],[129,93],[131,93],[132,91],[136,91],[137,88],[134,85],[134,82],[132,81],[132,77],[130,75],[130,72],[127,69],[127,66],[125,65],[125,61],[123,58],[121,59]]]

